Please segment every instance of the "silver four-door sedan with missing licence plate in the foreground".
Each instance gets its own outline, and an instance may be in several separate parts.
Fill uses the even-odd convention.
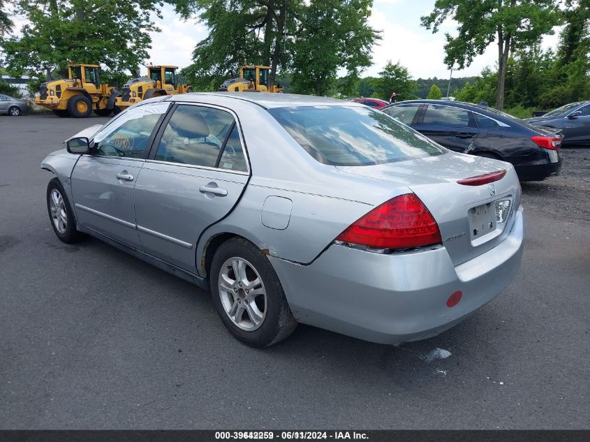
[[[385,344],[432,337],[519,269],[512,165],[357,103],[158,97],[67,146],[41,164],[59,239],[93,235],[210,290],[251,346],[298,322]]]

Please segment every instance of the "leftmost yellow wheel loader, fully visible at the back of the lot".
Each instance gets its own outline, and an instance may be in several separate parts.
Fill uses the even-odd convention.
[[[68,78],[41,83],[35,104],[51,109],[58,117],[108,117],[115,110],[116,87],[101,84],[101,66],[68,64]]]

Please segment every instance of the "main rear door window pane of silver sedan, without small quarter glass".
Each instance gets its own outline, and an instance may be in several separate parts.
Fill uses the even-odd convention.
[[[162,135],[156,160],[214,168],[234,119],[229,112],[179,105]]]

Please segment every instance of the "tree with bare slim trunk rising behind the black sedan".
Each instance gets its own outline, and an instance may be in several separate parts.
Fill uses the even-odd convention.
[[[445,63],[459,69],[469,66],[494,40],[498,45],[496,108],[504,105],[506,66],[511,50],[540,42],[560,23],[554,0],[436,0],[434,10],[421,18],[422,26],[438,31],[448,18],[459,23],[459,34],[445,34]]]

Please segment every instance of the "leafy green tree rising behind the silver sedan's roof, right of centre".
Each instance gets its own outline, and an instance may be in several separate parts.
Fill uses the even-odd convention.
[[[369,27],[372,0],[311,0],[302,8],[293,43],[293,87],[304,94],[325,95],[339,69],[357,80],[371,66],[378,32]]]

